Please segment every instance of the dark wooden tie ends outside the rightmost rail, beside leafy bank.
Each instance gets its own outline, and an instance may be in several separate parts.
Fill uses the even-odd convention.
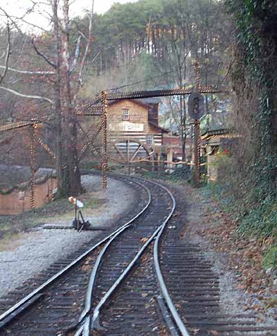
[[[161,271],[179,316],[190,335],[274,336],[277,324],[265,324],[256,314],[230,313],[222,302],[220,276],[205,256],[205,249],[191,241],[184,206],[188,195],[179,195],[175,217],[161,239]]]

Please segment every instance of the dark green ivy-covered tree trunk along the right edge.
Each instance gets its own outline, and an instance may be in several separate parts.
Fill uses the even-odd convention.
[[[249,85],[257,88],[258,111],[249,114],[251,127],[251,161],[245,164],[248,177],[243,186],[251,200],[276,197],[276,60],[277,3],[276,1],[226,0],[235,27],[236,40],[243,51],[238,67],[233,71],[234,86],[240,96]],[[248,79],[248,78],[249,79]],[[240,91],[241,90],[241,91]],[[240,172],[238,172],[240,173]],[[253,188],[254,187],[254,188]]]

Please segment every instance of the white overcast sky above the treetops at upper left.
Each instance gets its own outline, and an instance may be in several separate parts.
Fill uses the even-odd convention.
[[[94,10],[100,14],[109,10],[113,3],[127,3],[135,1],[136,0],[94,0]],[[91,7],[91,0],[72,0],[71,3],[71,15],[73,16],[82,15],[83,10]],[[0,0],[0,7],[4,8],[9,15],[17,17],[26,12],[26,10],[31,6],[32,1],[30,0]],[[29,15],[28,21],[32,24],[42,25],[46,28],[47,19],[43,19],[41,15]]]

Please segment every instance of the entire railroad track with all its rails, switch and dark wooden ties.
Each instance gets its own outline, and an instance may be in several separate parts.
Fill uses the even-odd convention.
[[[139,188],[136,209],[98,243],[11,293],[6,300],[20,300],[3,309],[0,335],[276,335],[277,326],[254,315],[224,313],[213,265],[199,245],[181,239],[183,202],[172,217],[167,188],[115,177]]]

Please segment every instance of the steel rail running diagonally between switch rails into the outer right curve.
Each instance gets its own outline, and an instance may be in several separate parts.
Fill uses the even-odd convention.
[[[166,220],[164,220],[163,223],[154,231],[152,236],[148,239],[147,242],[145,242],[143,247],[141,247],[141,249],[139,249],[136,256],[132,259],[132,261],[129,263],[129,265],[127,265],[127,267],[125,268],[123,273],[120,274],[120,276],[117,278],[117,280],[114,282],[114,284],[111,285],[111,288],[109,288],[109,290],[105,293],[105,295],[102,297],[102,299],[100,300],[100,302],[98,303],[96,308],[94,308],[92,321],[91,321],[91,315],[87,315],[87,317],[84,320],[84,324],[82,324],[82,326],[80,326],[80,328],[75,333],[75,336],[78,336],[78,335],[89,336],[89,333],[90,333],[91,329],[96,329],[96,330],[101,330],[102,329],[102,327],[100,326],[100,310],[101,310],[102,306],[104,306],[107,303],[107,301],[111,297],[111,294],[113,294],[114,291],[116,290],[116,288],[118,288],[118,285],[120,285],[120,283],[123,281],[125,276],[127,276],[127,274],[129,274],[132,267],[134,267],[134,265],[139,260],[139,258],[141,258],[141,256],[145,252],[145,249],[148,247],[148,245],[150,245],[150,243],[154,240],[154,238],[157,238],[157,236],[159,236],[159,233],[166,227],[166,224],[168,223],[168,220],[170,220],[170,218],[172,217],[172,214],[175,211],[175,208],[176,208],[175,198],[173,197],[172,193],[170,193],[170,191],[167,188],[165,188],[161,184],[157,184],[157,182],[152,182],[152,181],[147,180],[147,179],[142,179],[140,177],[136,177],[136,179],[141,179],[144,182],[147,181],[147,182],[150,182],[152,184],[155,184],[155,185],[159,186],[160,188],[163,188],[163,190],[165,190],[170,195],[170,198],[172,200],[172,209],[170,211],[170,214],[167,216]],[[135,181],[135,179],[132,179],[132,181]]]

